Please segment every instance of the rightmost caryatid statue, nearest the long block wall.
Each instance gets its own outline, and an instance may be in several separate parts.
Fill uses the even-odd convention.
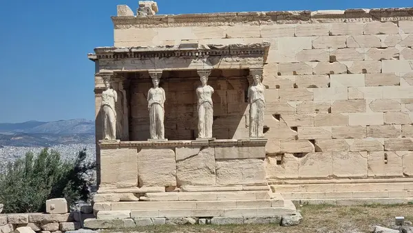
[[[251,138],[264,136],[265,86],[262,81],[262,70],[251,70],[253,83],[248,88],[248,103],[250,105],[249,136]]]

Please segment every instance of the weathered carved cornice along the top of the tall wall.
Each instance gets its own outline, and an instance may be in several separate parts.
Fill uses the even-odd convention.
[[[348,9],[272,12],[226,12],[210,14],[148,15],[112,17],[115,29],[168,28],[183,26],[233,26],[287,23],[331,23],[363,21],[413,21],[413,8]]]

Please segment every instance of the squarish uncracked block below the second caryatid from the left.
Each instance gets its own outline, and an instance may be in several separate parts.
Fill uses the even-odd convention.
[[[140,186],[176,186],[175,152],[143,149],[138,153]]]

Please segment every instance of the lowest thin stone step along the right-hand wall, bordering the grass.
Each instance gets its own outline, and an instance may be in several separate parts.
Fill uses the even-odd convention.
[[[394,205],[413,202],[413,198],[368,198],[368,199],[293,199],[296,205]]]

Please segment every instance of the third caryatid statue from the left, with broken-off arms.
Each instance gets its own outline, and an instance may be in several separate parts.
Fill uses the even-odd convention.
[[[211,70],[198,70],[201,85],[196,88],[198,96],[198,138],[212,138],[213,124],[213,88],[208,85],[208,77]]]

